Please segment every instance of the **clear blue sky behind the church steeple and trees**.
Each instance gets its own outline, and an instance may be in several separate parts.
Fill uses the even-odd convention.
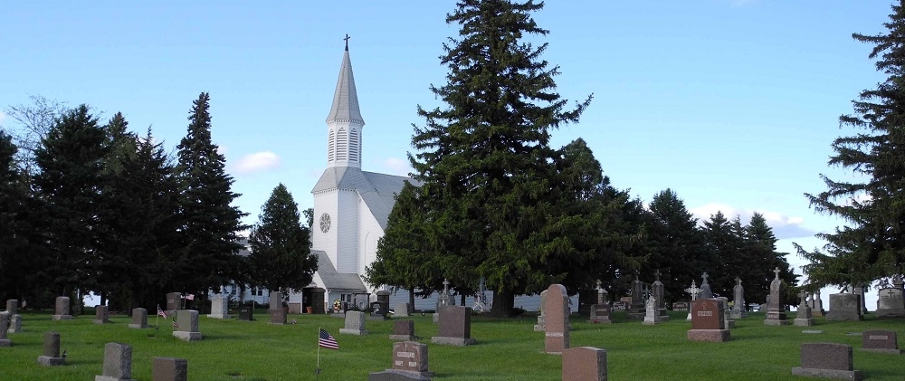
[[[198,93],[211,94],[214,143],[235,177],[236,202],[257,221],[278,183],[301,208],[326,167],[324,123],[349,49],[361,113],[363,168],[405,174],[417,105],[439,106],[444,22],[452,1],[13,2],[0,13],[0,110],[29,95],[90,105],[168,149],[186,134]],[[585,138],[614,186],[650,201],[669,187],[700,218],[722,210],[767,216],[778,249],[814,247],[840,223],[804,193],[838,117],[882,76],[871,46],[888,1],[663,0],[548,2],[544,58],[568,100],[594,94],[554,145]],[[15,128],[0,114],[0,124]],[[801,259],[789,257],[794,264]]]

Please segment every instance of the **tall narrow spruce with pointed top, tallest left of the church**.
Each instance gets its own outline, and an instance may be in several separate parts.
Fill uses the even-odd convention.
[[[235,254],[242,249],[237,234],[246,228],[240,221],[246,214],[230,205],[239,195],[231,190],[226,158],[211,140],[210,96],[202,92],[192,103],[188,133],[177,146],[184,246],[181,266],[174,270],[180,291],[206,295],[241,274]]]

